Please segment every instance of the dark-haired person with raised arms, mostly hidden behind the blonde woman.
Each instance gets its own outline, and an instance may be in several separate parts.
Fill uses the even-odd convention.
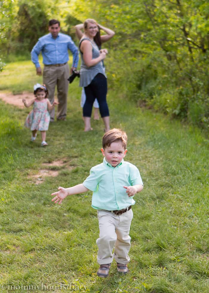
[[[83,36],[83,28],[84,28],[83,23],[75,26],[76,36],[78,37],[79,40]],[[99,50],[101,50],[102,44],[110,40],[115,35],[115,32],[113,30],[110,30],[109,28],[105,28],[99,23],[97,28],[98,28],[98,31],[96,33],[96,36],[94,37],[94,42],[98,46]],[[103,30],[106,34],[101,36],[100,30]],[[103,67],[103,71],[105,72],[105,65],[103,60],[102,60],[102,67]],[[84,88],[82,88],[82,93],[81,93],[81,107],[82,108],[84,106],[85,101],[86,101],[86,94],[85,94]],[[95,99],[93,103],[93,108],[94,108],[94,120],[99,120],[99,103],[97,99]]]

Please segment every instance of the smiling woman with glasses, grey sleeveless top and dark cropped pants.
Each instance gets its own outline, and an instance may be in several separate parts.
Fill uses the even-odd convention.
[[[95,20],[87,19],[83,27],[84,34],[79,42],[82,61],[79,86],[84,87],[86,94],[83,106],[84,131],[91,130],[91,112],[94,100],[97,98],[106,132],[110,129],[110,117],[106,101],[107,77],[103,71],[102,60],[107,55],[107,49],[99,50],[94,41],[98,32],[98,24]]]

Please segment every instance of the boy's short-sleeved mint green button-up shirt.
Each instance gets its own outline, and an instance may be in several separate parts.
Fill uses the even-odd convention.
[[[104,158],[103,163],[91,168],[83,185],[93,191],[92,207],[96,210],[121,210],[135,204],[128,197],[124,186],[143,185],[139,170],[124,160],[112,167]]]

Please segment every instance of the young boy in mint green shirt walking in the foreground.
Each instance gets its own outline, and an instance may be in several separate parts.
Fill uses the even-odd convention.
[[[93,191],[92,207],[97,210],[99,238],[97,262],[99,277],[107,277],[113,258],[117,271],[127,274],[130,261],[130,224],[133,218],[133,196],[142,191],[143,182],[139,170],[126,162],[127,135],[120,129],[111,129],[102,138],[103,163],[91,168],[82,184],[69,188],[59,187],[52,193],[52,201],[61,204],[68,195]],[[114,254],[113,254],[114,248]]]

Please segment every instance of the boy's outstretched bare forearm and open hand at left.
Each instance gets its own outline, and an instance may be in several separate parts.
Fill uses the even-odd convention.
[[[59,205],[62,203],[63,199],[65,199],[68,195],[84,193],[89,190],[83,184],[78,184],[68,188],[58,187],[58,189],[59,191],[54,192],[51,195],[55,195],[55,197],[52,199],[52,202],[54,202],[55,204],[58,202]]]

